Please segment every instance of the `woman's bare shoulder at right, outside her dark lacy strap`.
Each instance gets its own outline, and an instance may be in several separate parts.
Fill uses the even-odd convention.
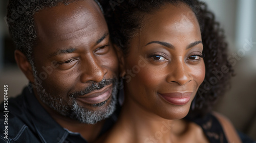
[[[212,114],[216,116],[219,122],[221,123],[223,130],[225,132],[225,135],[228,139],[228,142],[234,142],[234,143],[242,142],[236,129],[234,128],[234,126],[232,125],[232,123],[229,121],[227,117],[217,112],[213,112]]]

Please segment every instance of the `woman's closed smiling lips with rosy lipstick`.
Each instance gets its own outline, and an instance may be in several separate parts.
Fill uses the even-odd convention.
[[[174,105],[185,105],[189,102],[192,92],[159,93],[167,102]]]

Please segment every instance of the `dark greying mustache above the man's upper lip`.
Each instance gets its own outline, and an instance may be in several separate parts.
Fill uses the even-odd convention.
[[[114,78],[113,79],[103,79],[99,83],[92,83],[92,85],[88,86],[86,89],[84,89],[82,91],[76,91],[76,92],[70,93],[69,97],[74,99],[76,97],[88,94],[94,90],[99,90],[99,89],[105,87],[106,85],[110,85],[114,82],[116,82],[116,79],[114,79]]]

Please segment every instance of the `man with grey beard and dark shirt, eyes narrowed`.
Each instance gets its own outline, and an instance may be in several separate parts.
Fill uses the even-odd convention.
[[[91,142],[114,122],[118,60],[108,27],[97,2],[73,1],[9,1],[15,59],[30,84],[0,106],[0,142]]]

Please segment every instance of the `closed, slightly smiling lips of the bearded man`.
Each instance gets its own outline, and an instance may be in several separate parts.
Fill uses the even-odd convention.
[[[78,96],[76,99],[86,104],[97,104],[106,101],[110,98],[112,93],[112,84],[105,86],[102,89],[94,90],[83,96]]]

